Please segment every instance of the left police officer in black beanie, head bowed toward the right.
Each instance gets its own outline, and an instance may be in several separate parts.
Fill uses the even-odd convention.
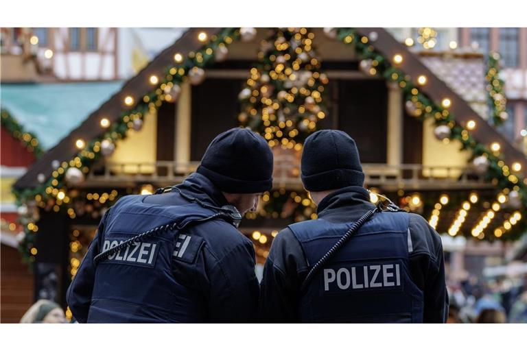
[[[253,244],[237,230],[272,187],[272,152],[234,128],[196,173],[110,208],[67,291],[78,322],[250,322],[259,284]]]

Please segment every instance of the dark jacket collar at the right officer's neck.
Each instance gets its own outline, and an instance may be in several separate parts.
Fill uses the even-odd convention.
[[[320,201],[317,206],[318,217],[342,211],[365,212],[375,208],[370,202],[370,195],[362,186],[347,186],[333,191]]]

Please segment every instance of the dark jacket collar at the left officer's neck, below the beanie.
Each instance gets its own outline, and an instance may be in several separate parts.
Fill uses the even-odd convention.
[[[209,178],[200,173],[191,173],[183,183],[176,185],[176,187],[185,194],[213,206],[221,207],[229,204],[220,189]]]

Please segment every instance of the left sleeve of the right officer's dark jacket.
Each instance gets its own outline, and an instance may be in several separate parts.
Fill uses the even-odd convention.
[[[260,285],[261,322],[300,322],[298,301],[308,266],[300,243],[285,228],[272,241]]]

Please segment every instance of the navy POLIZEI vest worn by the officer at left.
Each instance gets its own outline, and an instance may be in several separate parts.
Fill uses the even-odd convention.
[[[185,227],[220,216],[194,203],[160,206],[145,204],[144,198],[127,196],[113,206],[104,233],[99,233],[101,252],[157,226],[176,225],[97,265],[88,322],[202,322],[206,304],[174,279],[172,260],[192,264],[204,241]]]

